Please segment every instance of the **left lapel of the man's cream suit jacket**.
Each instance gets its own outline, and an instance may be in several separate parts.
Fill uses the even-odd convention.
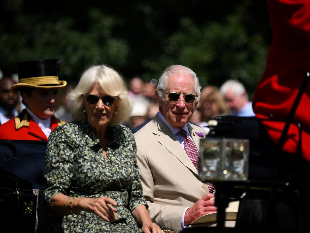
[[[177,158],[184,166],[188,167],[193,173],[198,175],[193,162],[188,158],[188,155],[176,139],[175,135],[166,126],[166,124],[159,118],[158,114],[153,119],[152,133],[158,135],[157,140],[164,146],[175,158]]]

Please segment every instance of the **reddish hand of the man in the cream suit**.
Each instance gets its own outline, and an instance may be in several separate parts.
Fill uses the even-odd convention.
[[[214,206],[215,201],[210,200],[214,198],[214,194],[206,194],[199,199],[191,208],[189,208],[184,215],[184,225],[192,224],[192,222],[208,213],[214,213],[217,211],[217,207]]]

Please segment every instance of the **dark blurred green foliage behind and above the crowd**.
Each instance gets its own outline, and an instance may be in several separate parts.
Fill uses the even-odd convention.
[[[158,79],[164,68],[193,69],[204,85],[238,79],[252,97],[271,43],[265,1],[136,0],[1,3],[0,68],[60,58],[60,78],[77,83],[106,63],[125,80]]]

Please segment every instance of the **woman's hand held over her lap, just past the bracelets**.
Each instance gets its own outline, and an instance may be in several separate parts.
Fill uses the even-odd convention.
[[[117,209],[113,206],[117,206],[116,201],[112,198],[101,196],[100,198],[80,198],[76,203],[77,212],[82,210],[90,213],[97,214],[100,218],[108,222],[114,222],[117,220]]]

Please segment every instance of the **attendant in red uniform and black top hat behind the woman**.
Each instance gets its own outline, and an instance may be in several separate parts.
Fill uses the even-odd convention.
[[[54,117],[58,102],[58,89],[67,85],[58,80],[59,60],[47,59],[20,62],[19,90],[26,106],[17,117],[0,126],[0,139],[47,141],[51,131],[64,121]]]

